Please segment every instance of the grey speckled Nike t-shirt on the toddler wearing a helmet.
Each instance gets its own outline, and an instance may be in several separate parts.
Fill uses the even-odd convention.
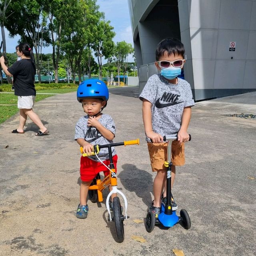
[[[113,143],[112,140],[107,140],[106,138],[104,138],[95,127],[87,126],[88,118],[88,116],[82,116],[78,120],[75,127],[74,139],[77,140],[79,138],[83,138],[92,145],[105,145]],[[100,124],[102,124],[102,126],[110,130],[113,134],[116,133],[116,125],[110,115],[102,114],[98,121],[100,122]],[[114,147],[112,147],[112,156],[114,156],[115,154],[116,150]],[[109,159],[108,148],[101,148],[100,152],[98,153],[98,157],[102,161]],[[94,161],[100,162],[96,156],[89,156],[89,158]]]

